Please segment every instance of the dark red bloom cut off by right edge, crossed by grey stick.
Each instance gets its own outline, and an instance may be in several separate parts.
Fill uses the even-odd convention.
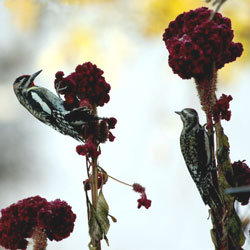
[[[233,187],[249,186],[250,185],[250,168],[245,163],[245,161],[236,161],[232,164],[233,167],[233,177],[229,179],[229,183]],[[239,193],[236,195],[236,200],[238,200],[241,205],[247,205],[249,202],[249,193]]]

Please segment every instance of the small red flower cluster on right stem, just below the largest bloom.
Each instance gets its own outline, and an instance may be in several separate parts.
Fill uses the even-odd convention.
[[[219,100],[216,101],[213,107],[213,118],[215,122],[219,122],[221,119],[227,121],[231,118],[231,111],[229,110],[229,102],[233,100],[231,95],[222,94]]]

